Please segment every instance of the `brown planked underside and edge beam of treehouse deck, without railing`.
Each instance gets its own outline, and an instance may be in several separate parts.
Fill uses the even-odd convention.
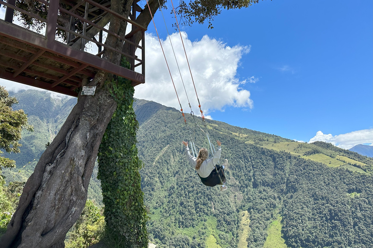
[[[48,40],[48,31],[41,35],[0,20],[0,78],[71,96],[98,70],[128,78],[133,86],[145,82],[144,74],[63,44],[51,33],[53,39]]]

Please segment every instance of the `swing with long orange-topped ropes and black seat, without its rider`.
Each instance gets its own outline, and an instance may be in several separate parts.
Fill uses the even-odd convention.
[[[149,11],[150,11],[150,6],[149,6],[149,2],[148,0],[146,0],[147,4],[148,4],[148,7],[149,7]],[[158,0],[158,3],[159,3],[159,6],[161,6],[159,0]],[[188,100],[188,105],[189,105],[189,108],[190,108],[190,115],[193,117],[193,120],[194,120],[194,123],[196,126],[198,126],[202,131],[203,133],[206,135],[207,137],[207,140],[208,140],[208,143],[210,145],[210,149],[211,149],[211,154],[214,155],[214,153],[216,152],[215,151],[215,147],[213,144],[211,144],[211,141],[210,141],[210,137],[209,137],[209,134],[208,134],[208,130],[207,130],[207,126],[206,126],[206,123],[205,123],[205,120],[204,120],[204,115],[203,115],[203,111],[201,109],[201,103],[200,103],[200,99],[198,98],[198,94],[197,94],[197,90],[196,90],[196,86],[194,84],[194,80],[193,80],[193,75],[192,75],[192,71],[190,69],[190,65],[189,65],[189,61],[188,61],[188,57],[186,55],[186,49],[185,49],[185,46],[184,46],[184,41],[183,41],[183,37],[181,35],[181,31],[180,31],[180,28],[179,28],[179,24],[177,22],[177,16],[176,16],[176,12],[175,12],[175,9],[174,9],[174,6],[173,6],[173,3],[172,3],[172,0],[171,0],[171,4],[172,4],[172,10],[173,10],[173,13],[175,15],[175,19],[176,19],[176,24],[177,24],[177,28],[179,30],[179,34],[180,34],[180,38],[181,38],[181,42],[183,44],[183,48],[184,48],[184,52],[185,52],[185,56],[186,56],[186,62],[188,64],[188,67],[189,67],[189,72],[190,72],[190,76],[191,76],[191,79],[192,79],[192,82],[193,82],[193,86],[194,86],[194,91],[196,93],[196,96],[197,96],[197,100],[198,100],[198,107],[200,108],[200,112],[201,112],[201,116],[202,116],[202,121],[203,121],[203,125],[205,127],[205,130],[206,131],[203,131],[203,129],[197,124],[196,120],[195,120],[195,116],[194,116],[194,112],[190,106],[190,102],[189,102],[189,98],[188,98],[188,95],[186,93],[186,88],[185,88],[185,84],[184,84],[184,81],[183,81],[183,77],[182,77],[182,74],[180,72],[180,68],[179,68],[179,64],[177,62],[177,59],[176,59],[176,55],[175,55],[175,51],[173,49],[173,46],[172,46],[172,42],[171,42],[171,39],[170,39],[170,34],[169,34],[169,31],[167,29],[167,24],[166,24],[166,21],[165,21],[165,18],[163,16],[163,12],[162,12],[162,9],[161,9],[161,13],[162,13],[162,16],[163,16],[163,20],[165,22],[165,26],[166,26],[166,30],[167,30],[167,34],[168,34],[168,37],[170,39],[170,44],[171,44],[171,47],[172,47],[172,52],[173,52],[173,55],[175,57],[175,61],[176,61],[176,64],[177,64],[177,68],[179,70],[179,74],[180,74],[180,77],[181,77],[181,81],[183,83],[183,87],[184,87],[184,91],[186,93],[186,98]],[[155,22],[154,22],[154,19],[153,19],[153,15],[152,15],[152,12],[150,11],[150,14],[152,16],[152,20],[153,20],[153,24],[154,24],[154,28],[155,28],[155,31],[157,33],[157,36],[158,36],[158,40],[159,40],[159,44],[161,46],[161,49],[162,49],[162,52],[163,52],[163,56],[165,58],[165,61],[166,61],[166,64],[167,64],[167,67],[168,67],[168,70],[169,70],[169,73],[170,73],[170,77],[171,77],[171,81],[172,81],[172,84],[173,84],[173,88],[175,90],[175,93],[176,93],[176,97],[177,97],[177,100],[179,102],[179,105],[180,105],[180,111],[183,115],[183,118],[184,118],[184,124],[186,124],[186,127],[188,129],[188,135],[189,135],[189,140],[190,140],[190,145],[191,145],[191,148],[192,148],[192,154],[194,157],[196,157],[198,155],[197,153],[197,150],[196,150],[196,145],[194,143],[194,138],[192,138],[192,135],[190,133],[190,129],[189,129],[189,126],[187,125],[186,123],[186,118],[185,118],[185,114],[183,112],[183,108],[181,106],[181,103],[180,103],[180,99],[179,99],[179,96],[177,94],[177,91],[176,91],[176,87],[175,87],[175,83],[173,81],[173,78],[172,78],[172,75],[171,75],[171,72],[170,72],[170,67],[169,67],[169,64],[167,62],[167,59],[166,59],[166,55],[165,55],[165,52],[163,50],[163,47],[162,47],[162,43],[161,43],[161,40],[159,38],[159,34],[158,34],[158,31],[157,31],[157,28],[155,26]],[[195,137],[195,132],[194,132],[194,137]],[[197,173],[198,174],[198,173]],[[224,173],[224,169],[222,166],[219,165],[219,161],[217,163],[217,165],[215,165],[215,169],[211,171],[210,175],[208,177],[201,177],[199,174],[198,176],[200,177],[201,179],[201,182],[205,185],[205,186],[210,186],[210,187],[213,187],[213,186],[216,186],[216,185],[224,185],[225,184],[225,181],[226,181],[226,177],[225,177],[225,173]]]

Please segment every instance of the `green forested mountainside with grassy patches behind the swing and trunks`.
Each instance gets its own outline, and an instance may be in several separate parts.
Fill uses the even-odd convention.
[[[35,132],[24,134],[20,141],[21,154],[13,156],[17,170],[3,170],[8,181],[29,175],[33,163],[22,167],[38,159],[76,102],[36,91],[14,96]],[[187,140],[187,130],[178,110],[145,100],[136,100],[134,108],[140,124],[139,157],[144,162],[141,184],[151,217],[149,238],[158,247],[372,246],[371,158],[324,142],[299,143],[206,120],[213,142],[222,141],[221,157],[230,163],[228,190],[220,192],[204,186],[187,164],[181,143]],[[196,143],[207,147],[188,115],[187,122],[196,133]],[[202,124],[200,118],[197,122]],[[100,202],[95,176],[89,198]]]

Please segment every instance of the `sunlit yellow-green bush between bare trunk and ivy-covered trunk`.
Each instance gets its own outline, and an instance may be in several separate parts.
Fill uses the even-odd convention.
[[[66,236],[65,247],[86,248],[97,244],[102,239],[104,226],[102,211],[88,200],[79,219]]]

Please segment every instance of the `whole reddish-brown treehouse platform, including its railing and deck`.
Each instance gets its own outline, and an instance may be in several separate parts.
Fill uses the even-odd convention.
[[[137,1],[132,8],[133,20],[136,11],[141,11]],[[82,81],[91,80],[98,70],[128,78],[133,86],[145,82],[146,28],[112,11],[110,0],[34,2],[46,10],[46,18],[18,8],[16,0],[0,0],[0,6],[6,6],[5,16],[0,19],[0,78],[71,96],[77,96],[76,89],[82,86]],[[17,15],[38,20],[45,28],[38,31],[26,29],[17,22]],[[127,21],[132,29],[124,36],[111,33],[105,27],[111,16]],[[61,17],[67,20],[65,25],[59,20]],[[137,32],[141,33],[141,46],[132,42]],[[131,52],[105,45],[105,35],[109,33],[130,44]],[[58,38],[57,34],[64,34],[64,38]],[[141,51],[141,58],[135,55],[136,49]],[[131,69],[103,59],[105,50],[127,57]]]

